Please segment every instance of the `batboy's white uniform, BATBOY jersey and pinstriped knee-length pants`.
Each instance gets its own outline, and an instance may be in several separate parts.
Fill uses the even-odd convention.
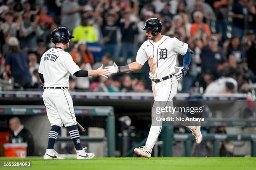
[[[44,87],[69,87],[69,75],[80,68],[71,55],[60,47],[53,47],[41,57],[38,72],[44,75]],[[76,125],[73,100],[67,89],[45,89],[44,105],[51,126]]]

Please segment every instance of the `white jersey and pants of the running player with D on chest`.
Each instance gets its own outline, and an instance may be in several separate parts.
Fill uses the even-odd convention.
[[[177,54],[185,55],[188,45],[177,38],[163,36],[158,42],[145,41],[138,50],[136,61],[144,65],[148,60],[151,79],[159,79],[170,74],[175,74]],[[152,81],[152,90],[155,101],[172,101],[177,93],[178,82],[176,77],[156,83]],[[153,114],[153,113],[152,113]],[[152,119],[153,119],[152,115]],[[161,132],[161,125],[151,125],[146,146],[153,148]]]

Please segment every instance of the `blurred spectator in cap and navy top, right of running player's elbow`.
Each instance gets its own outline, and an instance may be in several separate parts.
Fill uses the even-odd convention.
[[[220,77],[220,72],[228,65],[225,55],[218,47],[218,40],[215,36],[210,37],[208,46],[203,48],[200,56],[202,72],[209,70],[214,75],[214,79]]]

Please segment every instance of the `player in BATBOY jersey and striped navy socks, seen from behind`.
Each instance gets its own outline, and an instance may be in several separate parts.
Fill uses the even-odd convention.
[[[81,146],[77,121],[74,113],[73,101],[69,94],[69,75],[76,77],[87,77],[91,75],[110,75],[102,69],[80,70],[74,63],[71,55],[64,50],[69,47],[69,41],[74,38],[67,28],[56,28],[51,32],[51,40],[55,47],[47,50],[41,57],[39,76],[44,88],[43,100],[46,106],[47,117],[51,123],[48,146],[44,159],[63,159],[54,150],[54,143],[62,127],[69,130],[69,135],[77,150],[77,159],[92,159],[93,153],[86,153]]]

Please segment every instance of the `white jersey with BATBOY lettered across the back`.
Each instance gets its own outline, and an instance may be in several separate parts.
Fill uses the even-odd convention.
[[[69,87],[69,75],[79,70],[68,52],[53,47],[41,57],[38,72],[44,75],[44,87]]]

